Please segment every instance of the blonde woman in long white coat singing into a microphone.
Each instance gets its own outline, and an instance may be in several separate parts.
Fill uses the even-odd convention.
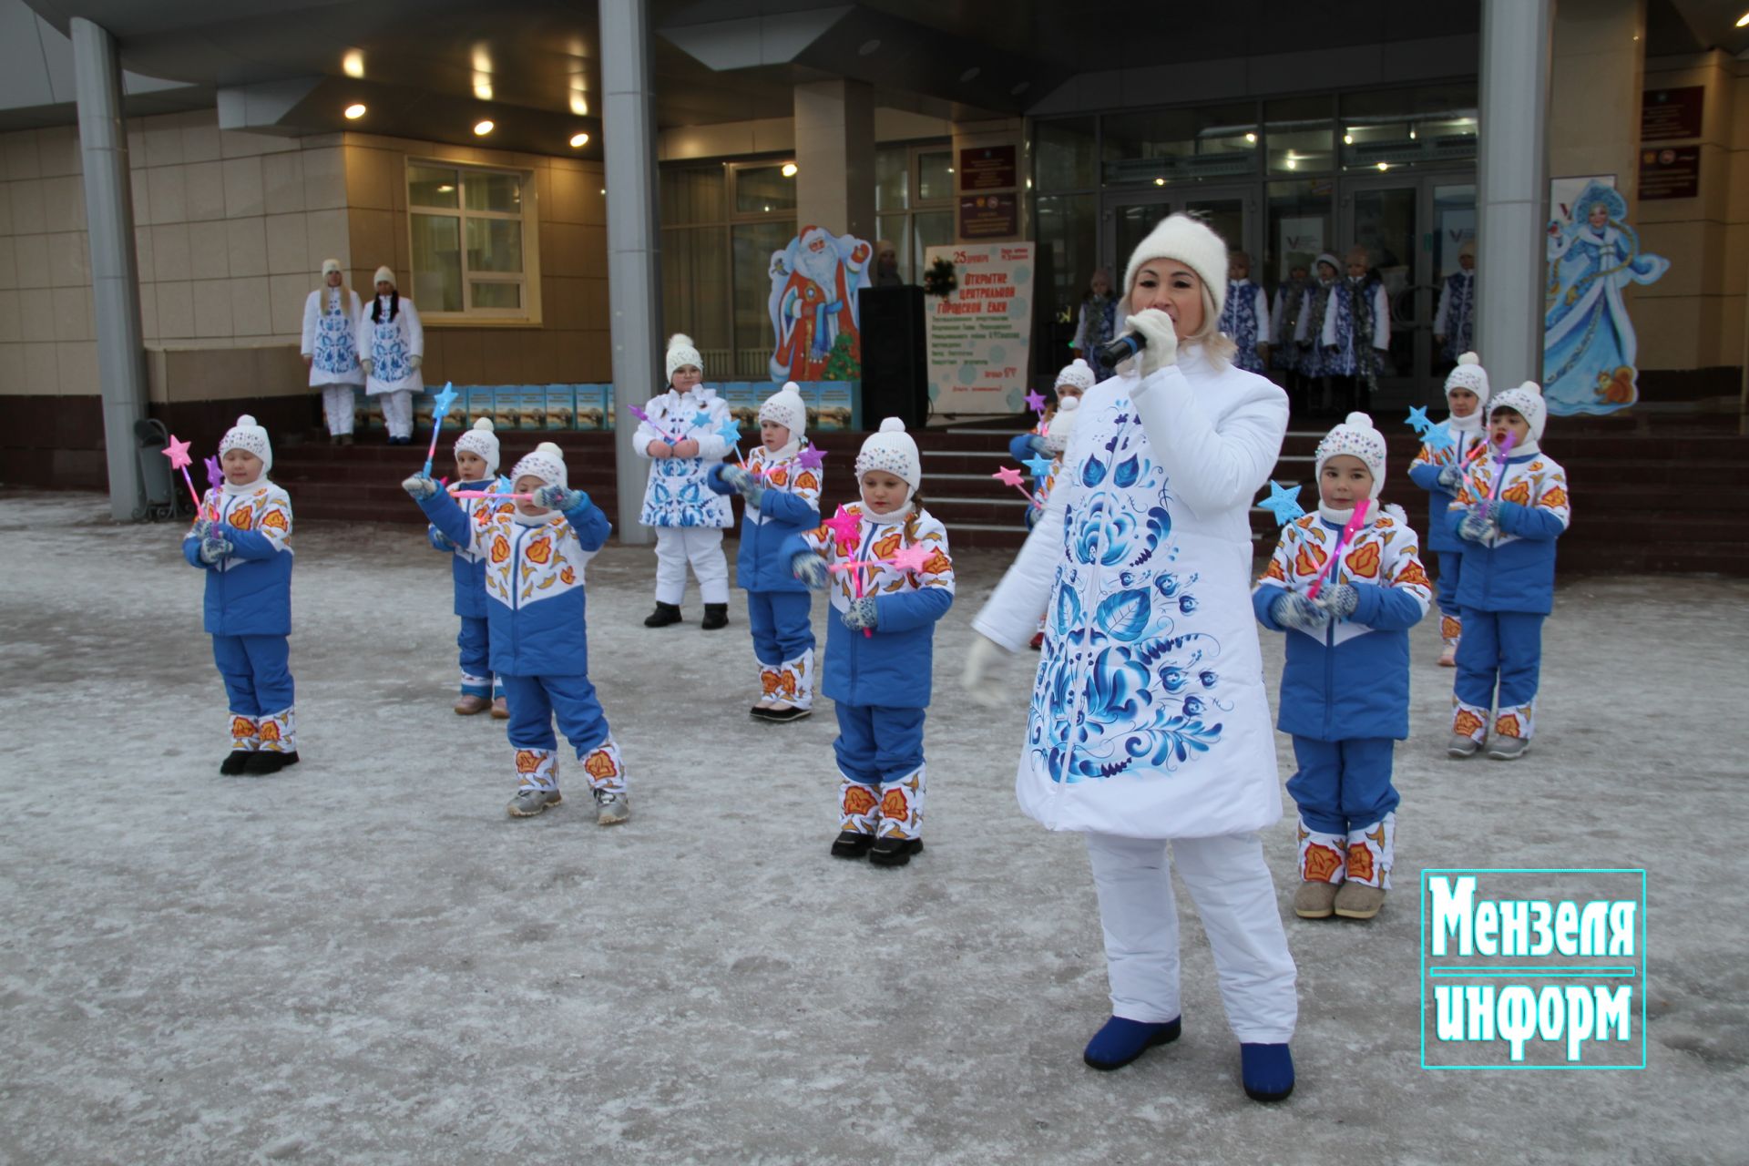
[[[1226,243],[1184,215],[1135,248],[1118,316],[1142,348],[1081,402],[1044,516],[972,621],[965,685],[995,703],[999,647],[1025,649],[1044,614],[1016,794],[1048,829],[1088,839],[1112,1014],[1086,1063],[1119,1068],[1179,1037],[1170,841],[1245,1093],[1280,1101],[1298,1000],[1258,837],[1282,816],[1282,787],[1247,512],[1287,397],[1228,362],[1226,271]]]

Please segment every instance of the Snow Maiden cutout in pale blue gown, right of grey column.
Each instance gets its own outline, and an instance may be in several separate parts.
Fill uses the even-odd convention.
[[[1548,301],[1543,316],[1543,399],[1550,413],[1613,413],[1634,404],[1639,341],[1621,288],[1656,283],[1670,260],[1641,253],[1616,191],[1593,182],[1574,217],[1548,226]],[[1627,369],[1627,372],[1621,372]],[[1618,379],[1627,385],[1611,393]]]

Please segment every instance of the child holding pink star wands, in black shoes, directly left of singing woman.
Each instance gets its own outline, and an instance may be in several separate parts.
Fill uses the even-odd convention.
[[[838,704],[843,778],[833,853],[892,867],[923,850],[923,710],[936,621],[953,605],[948,530],[916,496],[922,481],[916,442],[887,418],[857,455],[862,500],[791,535],[782,552],[798,579],[831,596],[824,691]],[[916,565],[894,563],[901,554]],[[831,570],[869,559],[888,565]]]

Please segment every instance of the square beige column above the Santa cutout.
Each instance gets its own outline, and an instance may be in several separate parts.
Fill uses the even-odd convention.
[[[796,86],[796,227],[874,238],[874,89],[861,80]]]

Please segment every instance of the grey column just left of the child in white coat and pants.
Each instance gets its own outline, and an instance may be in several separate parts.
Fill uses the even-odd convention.
[[[602,154],[607,166],[607,306],[614,339],[614,455],[619,540],[638,524],[649,463],[631,451],[637,418],[663,385],[661,252],[656,234],[656,117],[645,0],[602,0]]]

